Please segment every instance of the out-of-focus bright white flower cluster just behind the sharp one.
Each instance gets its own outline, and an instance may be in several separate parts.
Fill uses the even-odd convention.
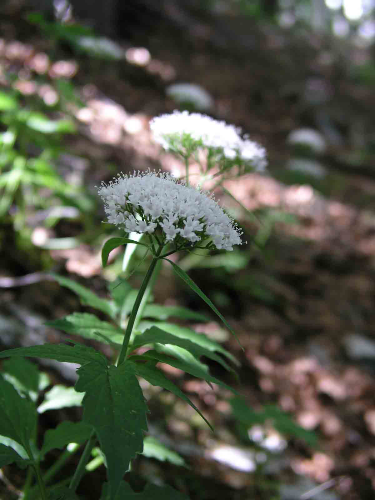
[[[154,140],[166,150],[185,149],[186,145],[191,150],[204,147],[233,162],[251,162],[258,170],[264,170],[267,164],[265,149],[247,136],[242,139],[239,127],[205,114],[175,110],[153,118],[150,129]]]

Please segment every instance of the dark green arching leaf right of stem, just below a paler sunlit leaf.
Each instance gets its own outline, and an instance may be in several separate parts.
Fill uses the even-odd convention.
[[[220,363],[226,370],[233,371],[233,369],[220,356],[218,356],[211,350],[206,349],[189,339],[180,338],[171,333],[168,333],[167,331],[161,330],[160,328],[157,328],[157,326],[151,326],[151,328],[145,330],[140,335],[136,335],[132,343],[132,348],[136,349],[141,345],[152,343],[178,345],[179,347],[186,349],[197,359],[199,359],[200,356],[206,356]]]

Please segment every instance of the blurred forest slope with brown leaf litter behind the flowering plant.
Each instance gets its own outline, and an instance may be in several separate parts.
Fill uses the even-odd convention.
[[[64,340],[43,323],[87,310],[50,271],[102,296],[121,272],[119,251],[101,268],[118,232],[101,223],[95,186],[133,169],[181,174],[152,141],[152,117],[201,111],[267,150],[265,172],[215,193],[246,247],[176,256],[245,348],[214,318],[193,325],[241,361],[240,383],[229,382],[253,413],[238,424],[228,394],[169,368],[216,433],[145,384],[150,433],[189,468],[140,456],[133,484],[166,481],[201,500],[373,498],[374,12],[373,0],[1,1],[2,348]],[[198,97],[181,99],[176,83],[198,85]],[[154,298],[209,314],[168,268]],[[69,366],[43,369],[68,384]],[[79,411],[43,413],[41,425]],[[14,485],[18,473],[6,469]],[[96,498],[104,467],[88,477],[79,493]],[[6,484],[1,497],[16,497]]]

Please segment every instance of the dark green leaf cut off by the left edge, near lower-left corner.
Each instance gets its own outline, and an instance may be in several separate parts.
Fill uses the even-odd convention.
[[[35,425],[33,402],[21,397],[9,382],[0,378],[0,434],[19,442],[29,453]]]

